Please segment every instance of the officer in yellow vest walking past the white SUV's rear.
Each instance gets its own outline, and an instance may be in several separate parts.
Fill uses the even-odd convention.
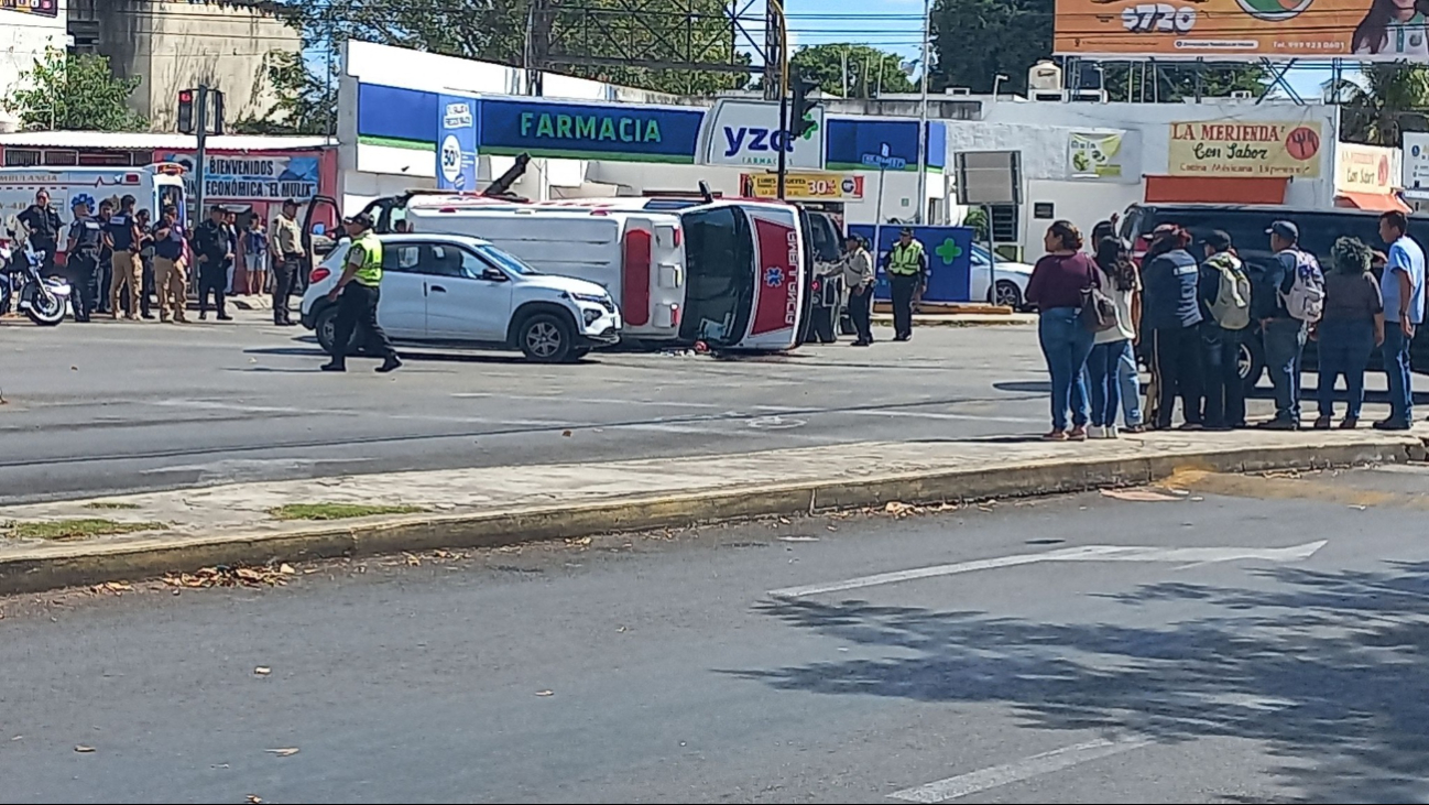
[[[353,245],[347,247],[343,276],[327,293],[329,302],[337,303],[337,320],[333,323],[333,359],[323,365],[323,372],[346,372],[347,350],[353,343],[353,330],[376,355],[382,357],[377,372],[392,372],[402,366],[392,340],[377,323],[377,302],[382,296],[382,240],[372,232],[372,216],[357,213],[343,222]],[[357,343],[362,343],[360,340]]]

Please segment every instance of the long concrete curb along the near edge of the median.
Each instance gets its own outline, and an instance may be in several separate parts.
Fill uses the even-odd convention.
[[[213,565],[262,565],[372,556],[437,548],[500,548],[607,532],[634,532],[775,515],[905,503],[1029,498],[1152,483],[1177,472],[1268,472],[1422,460],[1425,445],[1402,442],[1286,445],[1195,455],[1027,463],[999,469],[889,473],[860,480],[800,482],[743,489],[623,498],[576,506],[370,518],[277,535],[186,539],[173,545],[73,545],[64,553],[0,560],[0,595],[136,581]]]

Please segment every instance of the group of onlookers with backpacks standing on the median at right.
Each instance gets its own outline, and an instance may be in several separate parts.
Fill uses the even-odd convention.
[[[1265,234],[1273,259],[1250,270],[1238,245],[1219,230],[1195,240],[1183,227],[1163,223],[1136,260],[1116,237],[1115,220],[1099,223],[1090,243],[1069,222],[1055,222],[1045,237],[1047,253],[1027,282],[1052,376],[1046,438],[1167,429],[1177,399],[1182,429],[1246,428],[1242,353],[1250,339],[1260,339],[1275,386],[1276,413],[1258,428],[1302,426],[1302,356],[1313,339],[1319,352],[1313,428],[1335,426],[1340,375],[1349,405],[1339,428],[1359,425],[1365,372],[1379,349],[1390,413],[1373,425],[1408,429],[1413,422],[1409,345],[1425,317],[1425,253],[1409,236],[1406,216],[1380,216],[1385,252],[1356,237],[1338,239],[1328,269],[1299,246],[1295,222],[1278,220]],[[1143,350],[1150,366],[1145,406],[1137,366],[1143,339],[1150,340]]]

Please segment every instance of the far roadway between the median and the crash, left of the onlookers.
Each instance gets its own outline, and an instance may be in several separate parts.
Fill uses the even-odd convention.
[[[1027,326],[789,357],[417,355],[324,375],[304,330],[0,323],[0,503],[242,480],[1046,428]],[[889,333],[885,333],[889,335]],[[572,436],[563,436],[572,430]]]

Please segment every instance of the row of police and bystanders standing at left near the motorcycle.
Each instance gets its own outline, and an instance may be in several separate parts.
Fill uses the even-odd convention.
[[[133,196],[99,202],[89,194],[70,199],[73,222],[64,224],[40,190],[34,204],[17,216],[30,246],[44,255],[44,272],[54,273],[54,259],[64,252],[74,320],[93,313],[113,317],[187,322],[187,299],[197,295],[199,317],[211,307],[227,320],[227,297],[273,295],[273,320],[292,325],[289,299],[302,280],[302,234],[297,202],[283,203],[270,237],[263,219],[253,216],[237,226],[233,210],[210,207],[191,230],[179,210],[166,207],[157,222],[149,210],[136,210]],[[242,263],[240,263],[242,259]],[[240,270],[242,266],[242,270]]]

